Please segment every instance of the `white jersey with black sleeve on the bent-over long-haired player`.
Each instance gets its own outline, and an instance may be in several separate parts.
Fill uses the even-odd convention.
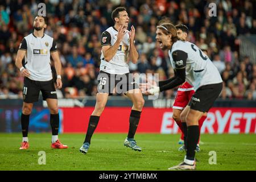
[[[178,40],[172,45],[169,57],[174,69],[185,67],[185,80],[193,85],[195,90],[203,85],[222,82],[218,69],[209,57],[193,43]]]

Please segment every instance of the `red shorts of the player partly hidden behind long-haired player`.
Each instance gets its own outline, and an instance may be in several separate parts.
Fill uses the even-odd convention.
[[[188,91],[178,90],[172,109],[183,110],[185,106],[188,105],[188,102],[190,101],[194,93],[195,93],[195,90],[188,90]]]

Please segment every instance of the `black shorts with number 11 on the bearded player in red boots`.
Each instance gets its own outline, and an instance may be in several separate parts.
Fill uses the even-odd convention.
[[[30,78],[24,78],[23,86],[23,101],[27,103],[37,102],[39,98],[39,93],[42,92],[43,100],[47,98],[57,99],[57,93],[53,80],[49,81],[34,81]]]

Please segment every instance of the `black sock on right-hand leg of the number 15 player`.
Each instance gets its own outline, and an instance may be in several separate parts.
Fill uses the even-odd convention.
[[[129,133],[127,135],[127,138],[134,138],[140,118],[141,118],[141,111],[131,110],[131,114],[129,118],[129,123],[130,123]]]

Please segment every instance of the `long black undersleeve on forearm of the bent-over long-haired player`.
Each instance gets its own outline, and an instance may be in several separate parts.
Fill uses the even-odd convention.
[[[170,78],[170,82],[168,84],[159,86],[160,92],[164,90],[169,90],[175,88],[175,86],[179,86],[185,82],[186,78],[186,69],[185,68],[180,68],[176,69],[175,76]]]

